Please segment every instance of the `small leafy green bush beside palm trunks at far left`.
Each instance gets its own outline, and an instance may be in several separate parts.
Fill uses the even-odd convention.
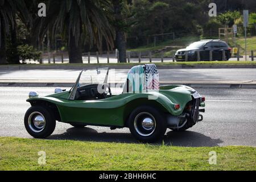
[[[18,46],[18,54],[23,62],[27,59],[38,60],[40,59],[41,53],[40,51],[36,51],[33,46],[28,46],[28,44]]]

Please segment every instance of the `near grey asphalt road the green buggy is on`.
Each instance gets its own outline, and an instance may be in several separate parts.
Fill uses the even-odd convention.
[[[44,96],[54,88],[32,88]],[[31,138],[24,129],[24,113],[31,88],[0,87],[0,136]],[[204,121],[188,131],[167,130],[166,144],[173,146],[256,146],[256,90],[255,89],[197,89],[206,96]],[[57,123],[49,139],[92,140],[105,142],[136,142],[129,129],[110,130],[108,127],[89,126],[75,129]],[[161,144],[161,142],[159,142]]]

